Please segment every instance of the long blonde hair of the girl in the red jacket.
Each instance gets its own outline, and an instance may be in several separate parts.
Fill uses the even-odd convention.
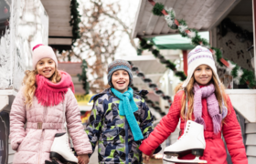
[[[227,97],[225,93],[225,87],[220,84],[219,86],[219,81],[213,74],[212,79],[210,81],[215,87],[215,96],[219,102],[219,110],[222,113],[222,109],[220,108],[222,106],[222,97],[224,100],[224,104],[227,107]],[[175,93],[182,89],[182,84],[180,83],[176,86],[175,88]],[[195,84],[195,77],[192,76],[189,83],[187,84],[187,87],[184,88],[184,94],[182,96],[181,100],[181,111],[180,111],[180,116],[182,119],[185,119],[185,112],[186,112],[186,93],[187,93],[187,120],[192,120],[193,117],[193,105],[194,105],[194,84]]]

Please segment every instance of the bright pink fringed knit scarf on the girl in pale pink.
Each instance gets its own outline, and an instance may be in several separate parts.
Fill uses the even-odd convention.
[[[59,71],[61,79],[59,83],[53,83],[48,78],[37,74],[37,89],[35,96],[42,106],[56,106],[64,99],[64,94],[71,87],[74,92],[74,85],[68,73]]]

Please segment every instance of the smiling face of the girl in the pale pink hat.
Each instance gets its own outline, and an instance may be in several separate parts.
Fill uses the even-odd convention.
[[[37,63],[38,74],[49,78],[55,72],[55,62],[51,58],[42,58]]]

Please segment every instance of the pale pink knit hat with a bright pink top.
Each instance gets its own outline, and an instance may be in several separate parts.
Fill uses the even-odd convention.
[[[55,56],[55,53],[53,49],[50,46],[45,46],[43,44],[38,44],[37,46],[33,47],[33,67],[36,69],[37,62],[42,58],[51,58],[56,64],[56,67],[58,67],[58,61],[57,57]]]

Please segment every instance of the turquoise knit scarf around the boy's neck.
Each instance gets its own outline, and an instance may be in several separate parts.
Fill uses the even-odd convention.
[[[133,133],[134,140],[144,138],[141,128],[133,115],[133,112],[138,110],[136,103],[133,100],[133,89],[128,87],[128,90],[123,94],[112,87],[112,93],[120,99],[119,114],[125,116]]]

